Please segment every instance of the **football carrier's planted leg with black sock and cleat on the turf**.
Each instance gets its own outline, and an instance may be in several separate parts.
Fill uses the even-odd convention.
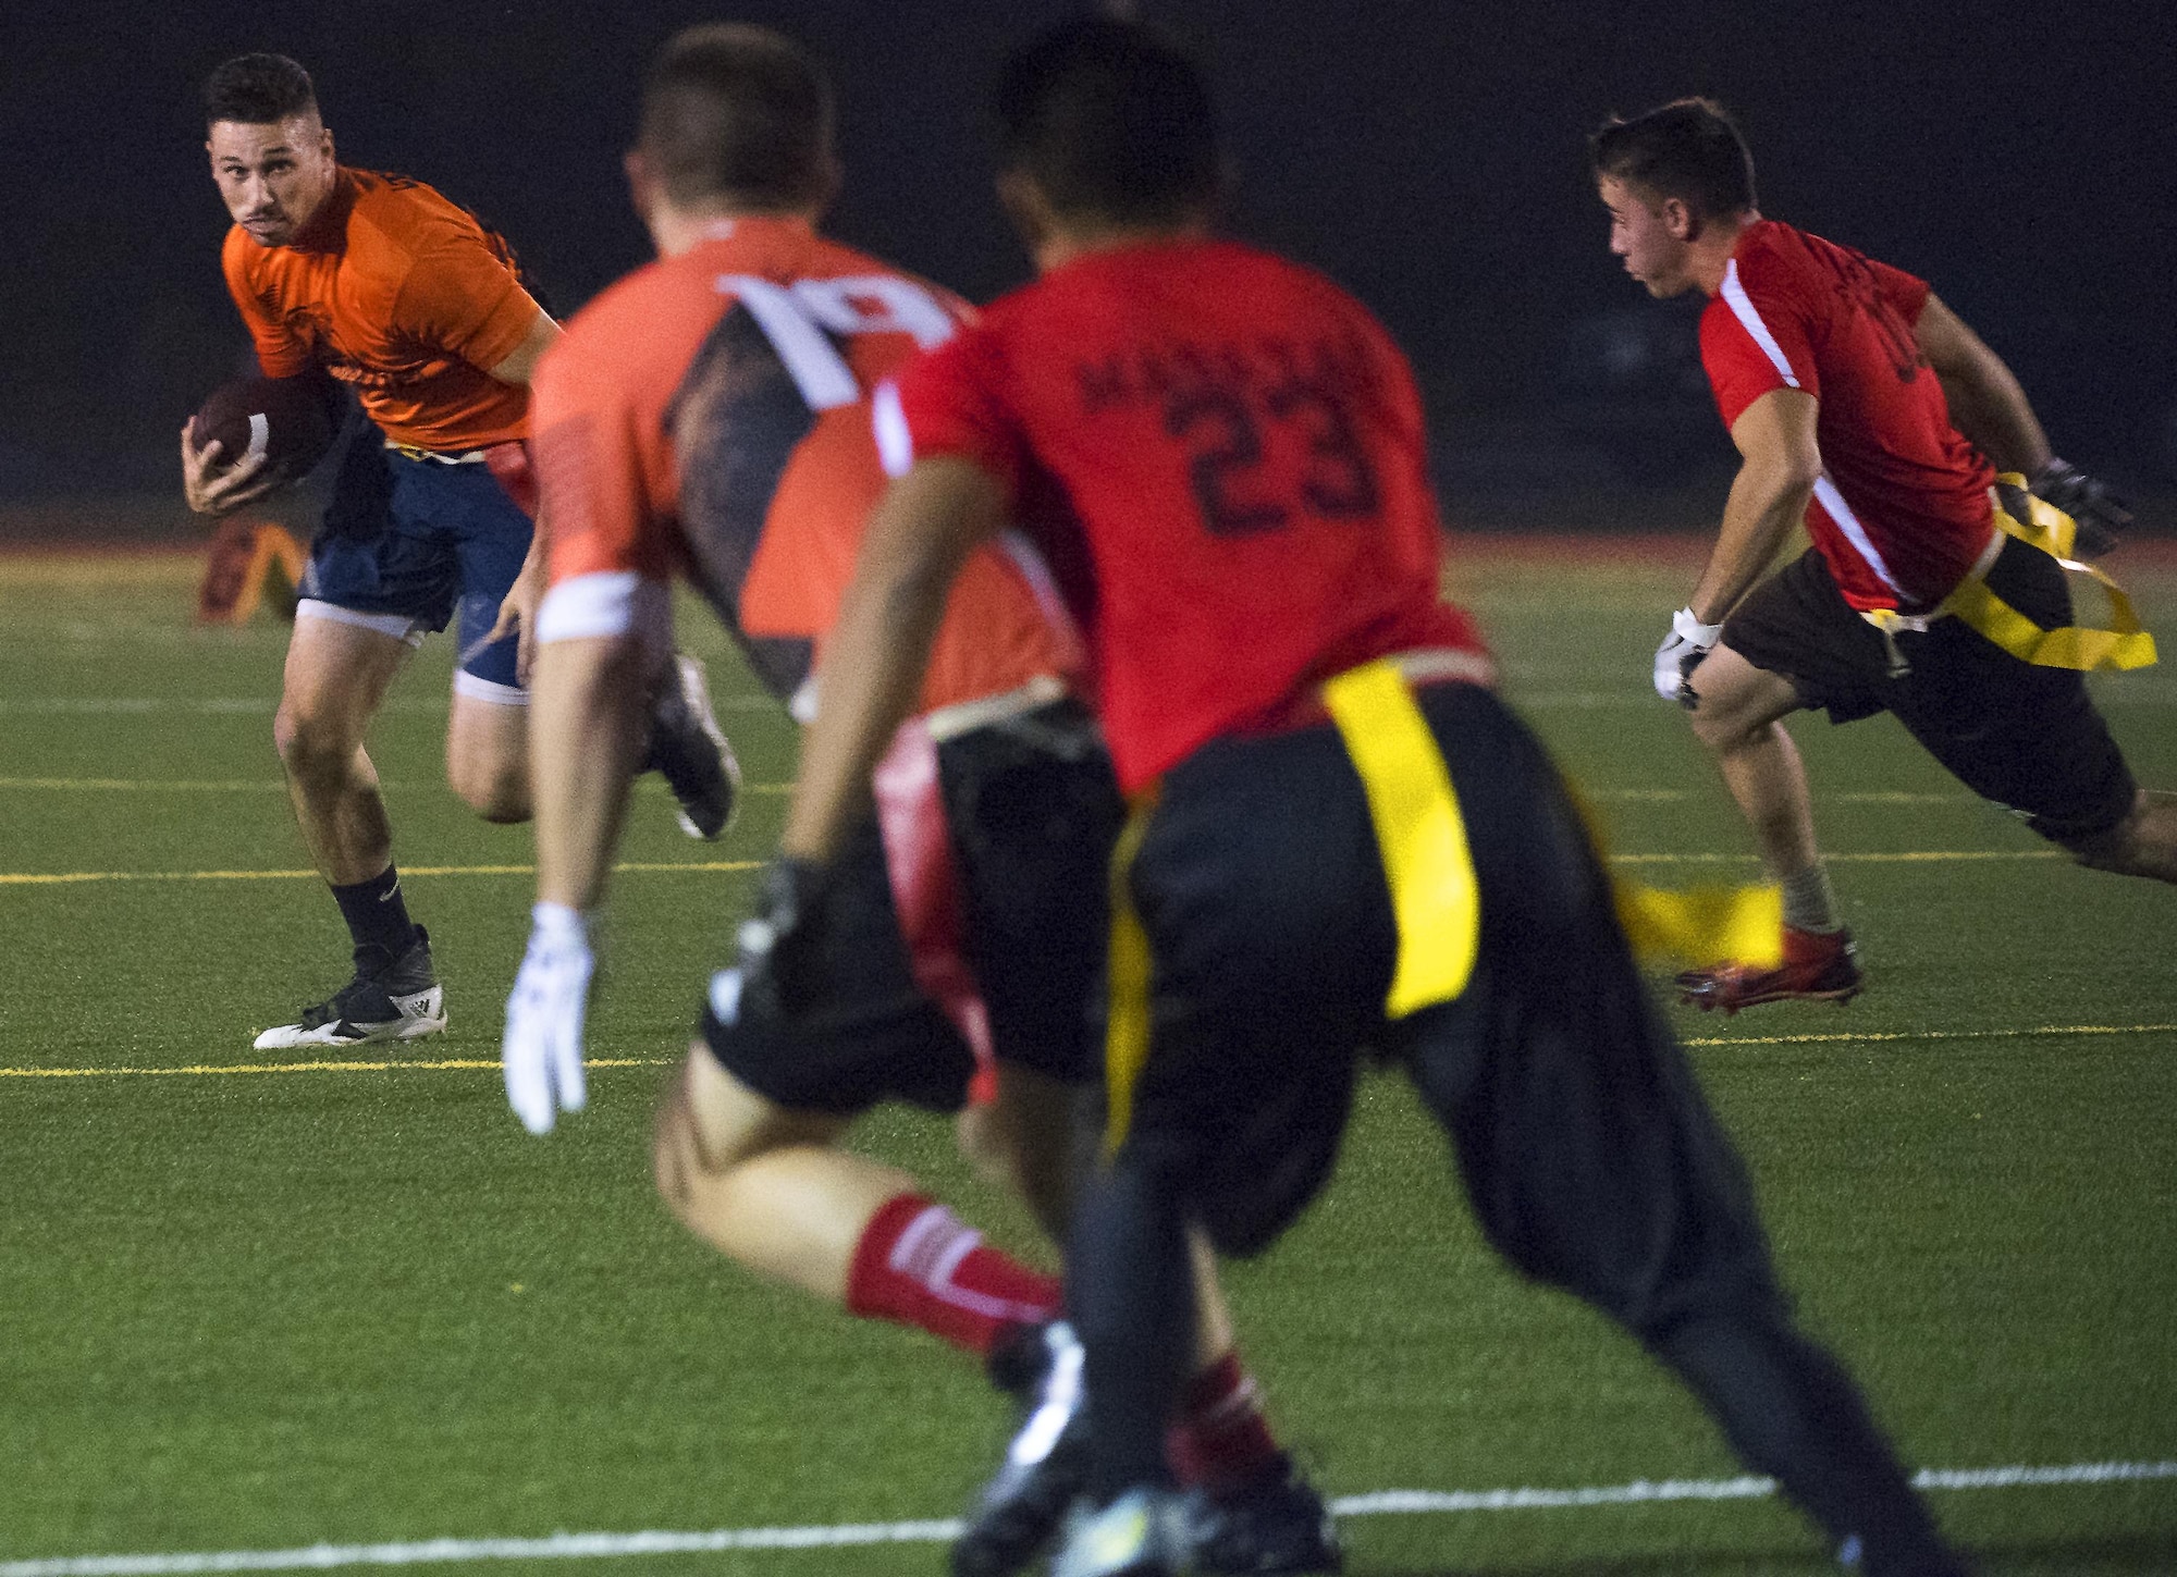
[[[296,616],[272,736],[303,841],[355,941],[355,976],[296,1022],[263,1030],[257,1050],[407,1041],[446,1028],[431,943],[407,915],[379,773],[364,749],[407,653],[385,627],[318,614],[311,603]]]

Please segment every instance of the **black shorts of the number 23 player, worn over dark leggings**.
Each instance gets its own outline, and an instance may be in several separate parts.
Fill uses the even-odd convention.
[[[1776,1298],[1746,1174],[1648,1002],[1557,769],[1489,690],[1419,690],[1480,889],[1467,991],[1382,1011],[1398,937],[1328,728],[1223,738],[1167,773],[1128,878],[1154,958],[1126,1152],[1228,1252],[1328,1176],[1363,1048],[1406,1065],[1498,1250],[1655,1335]]]

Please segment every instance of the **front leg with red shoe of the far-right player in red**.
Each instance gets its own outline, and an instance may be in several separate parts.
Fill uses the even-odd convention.
[[[1678,991],[1696,1006],[1726,1013],[1785,998],[1850,1002],[1861,989],[1859,958],[1813,841],[1807,767],[1783,728],[1800,710],[1798,688],[1731,647],[1709,651],[1689,684],[1694,736],[1715,756],[1724,786],[1755,830],[1761,863],[1783,887],[1785,956],[1774,969],[1729,961],[1689,969],[1678,976]]]

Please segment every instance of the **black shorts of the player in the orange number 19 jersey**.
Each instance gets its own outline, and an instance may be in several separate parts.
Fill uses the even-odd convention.
[[[1088,1004],[1110,939],[1108,871],[1126,806],[1086,710],[1058,701],[938,745],[938,791],[964,908],[964,954],[991,1050],[1067,1083],[1102,1074]],[[975,1054],[914,980],[877,823],[834,863],[810,921],[814,1002],[782,1019],[712,982],[703,1041],[755,1093],[795,1111],[884,1100],[958,1111]]]

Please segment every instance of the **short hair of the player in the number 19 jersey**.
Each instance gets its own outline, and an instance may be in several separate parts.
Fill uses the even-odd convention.
[[[832,83],[784,33],[712,22],[666,39],[642,85],[638,146],[679,205],[792,209],[832,179]]]

